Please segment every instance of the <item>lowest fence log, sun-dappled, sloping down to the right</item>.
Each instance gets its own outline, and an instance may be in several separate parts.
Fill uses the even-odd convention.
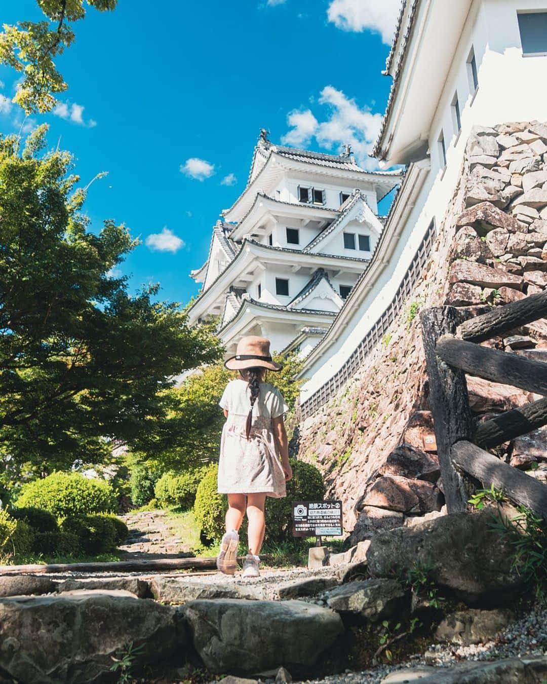
[[[509,499],[547,520],[547,486],[537,479],[466,441],[453,445],[452,458],[455,464],[477,478],[485,488],[493,484],[503,490]]]

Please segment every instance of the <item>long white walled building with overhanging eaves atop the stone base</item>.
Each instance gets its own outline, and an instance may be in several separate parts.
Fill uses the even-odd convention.
[[[459,181],[474,125],[547,120],[547,0],[404,0],[374,155],[407,166],[371,263],[306,358],[304,417],[395,317]]]

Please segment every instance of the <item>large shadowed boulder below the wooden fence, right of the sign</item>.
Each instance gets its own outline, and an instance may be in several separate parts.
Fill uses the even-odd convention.
[[[522,579],[511,573],[513,549],[490,523],[487,508],[379,532],[366,553],[371,575],[406,575],[422,564],[431,566],[431,581],[468,603],[505,602]]]

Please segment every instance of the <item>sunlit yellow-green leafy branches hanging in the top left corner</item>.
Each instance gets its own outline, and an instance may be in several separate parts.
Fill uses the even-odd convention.
[[[20,21],[3,25],[0,33],[0,63],[22,74],[14,102],[27,114],[51,111],[55,94],[68,86],[57,71],[55,58],[75,40],[69,22],[85,17],[83,0],[37,0],[48,21]],[[114,10],[118,0],[87,0],[99,12]]]

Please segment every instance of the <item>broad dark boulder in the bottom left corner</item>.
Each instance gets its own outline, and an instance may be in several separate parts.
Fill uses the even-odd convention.
[[[32,684],[99,681],[128,642],[139,666],[183,650],[173,608],[149,599],[88,592],[0,600],[0,668]]]

